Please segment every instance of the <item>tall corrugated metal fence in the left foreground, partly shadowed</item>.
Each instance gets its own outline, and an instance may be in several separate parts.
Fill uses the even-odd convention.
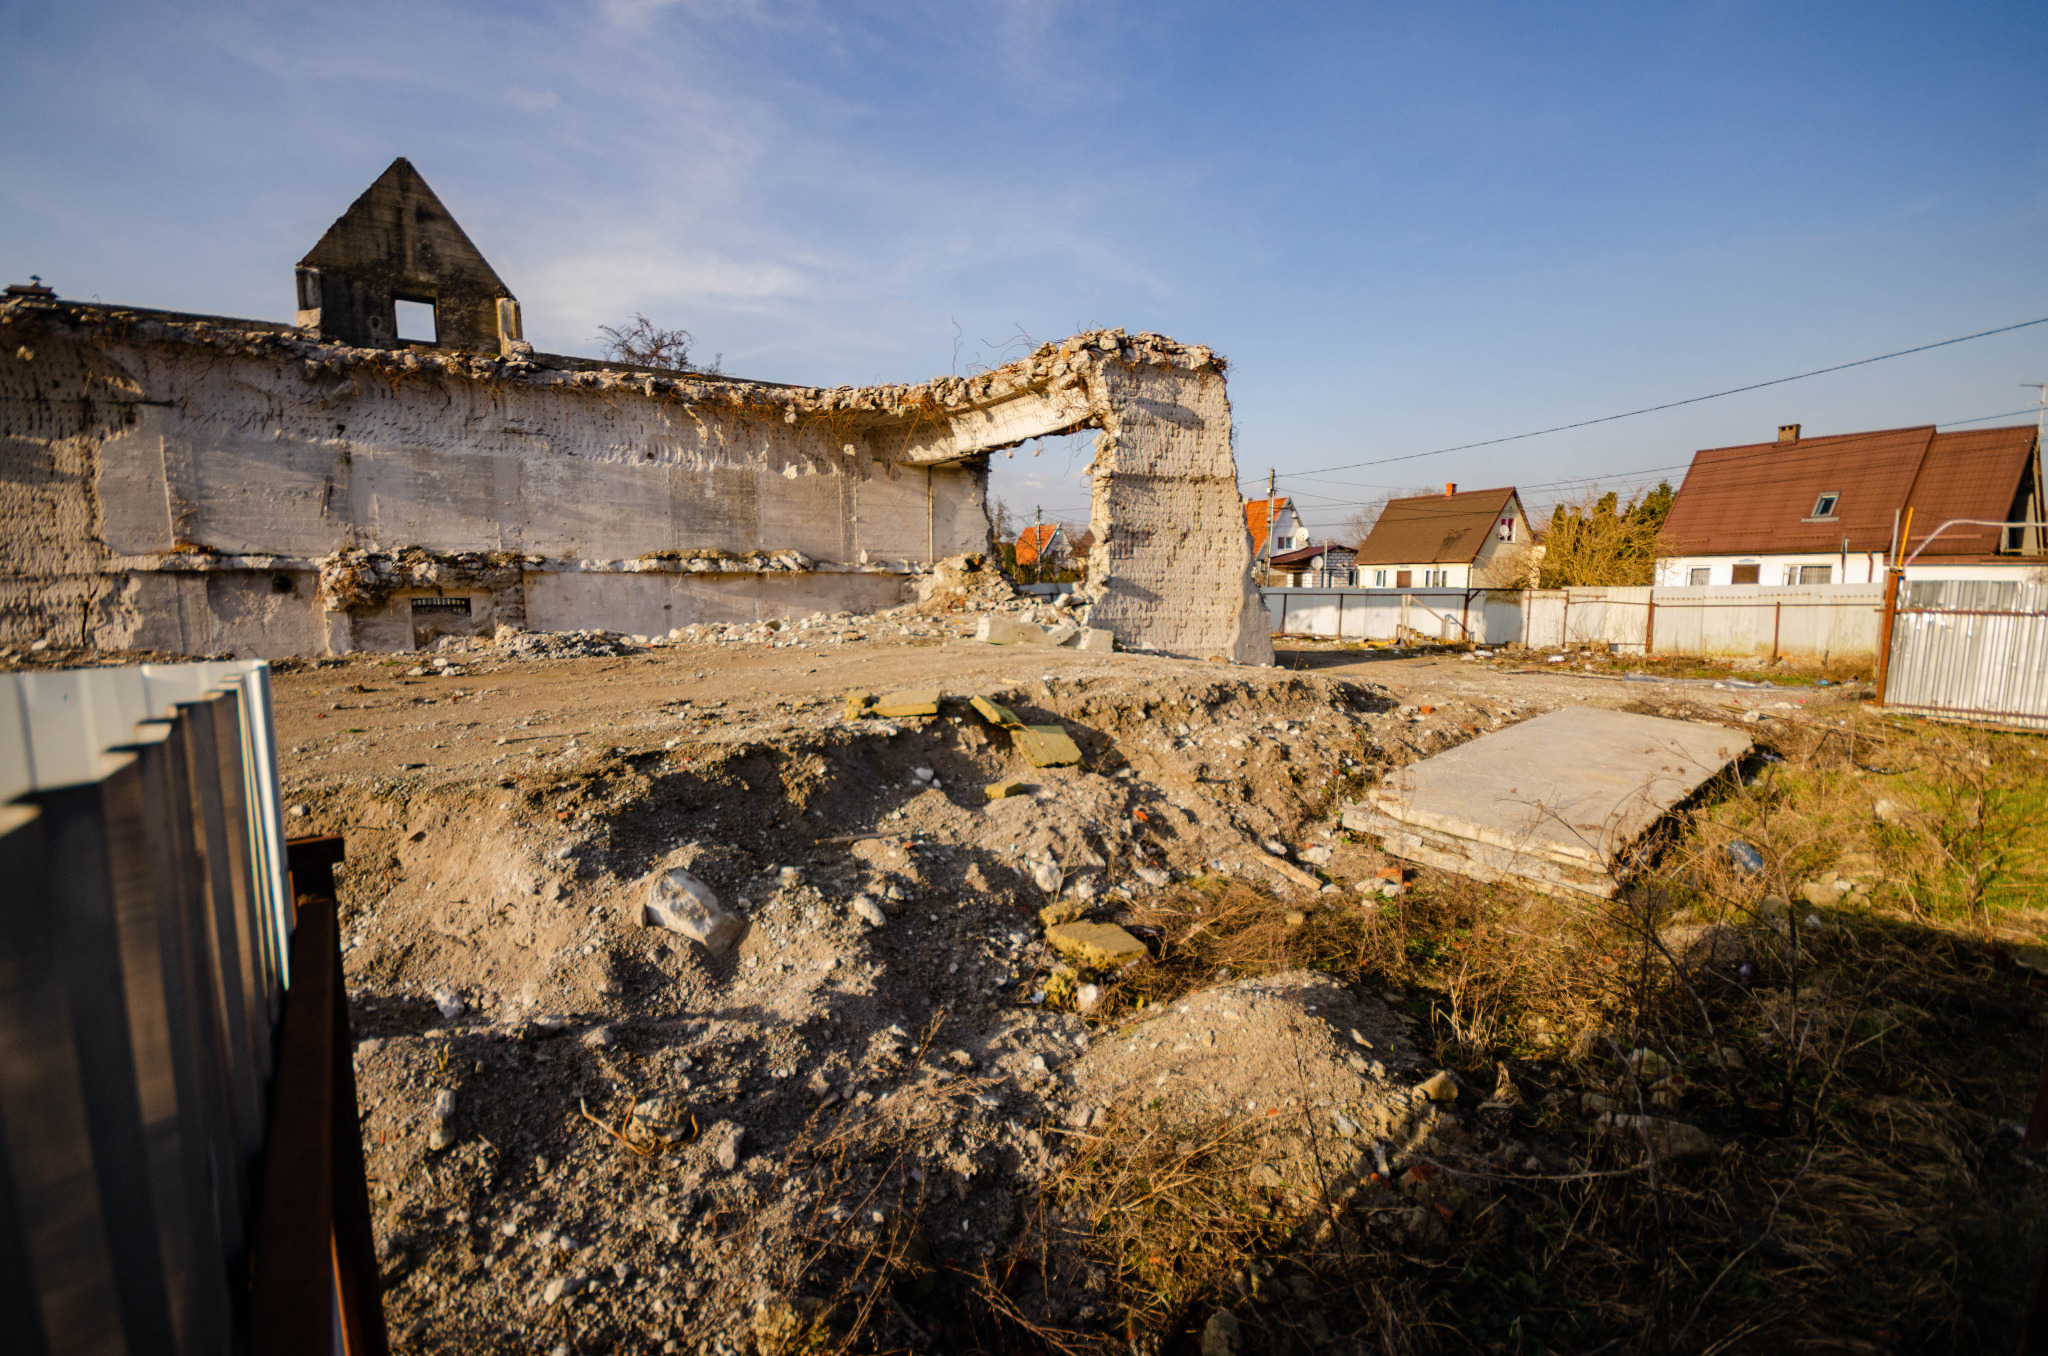
[[[317,930],[293,936],[268,666],[0,676],[0,1346],[274,1350],[272,1082],[299,989],[332,985],[311,957],[287,989]],[[336,1329],[311,1307],[299,1350]]]

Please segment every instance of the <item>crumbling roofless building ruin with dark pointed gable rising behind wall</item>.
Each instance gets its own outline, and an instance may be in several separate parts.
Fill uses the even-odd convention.
[[[879,610],[989,549],[989,453],[1096,428],[1094,625],[1272,658],[1208,348],[1100,330],[858,389],[543,354],[406,160],[297,299],[283,326],[10,289],[0,643],[317,655]]]

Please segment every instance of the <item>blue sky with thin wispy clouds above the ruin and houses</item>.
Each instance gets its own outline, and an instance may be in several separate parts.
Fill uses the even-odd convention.
[[[1313,475],[2048,315],[2038,0],[0,0],[0,63],[8,281],[289,320],[291,264],[408,156],[543,348],[645,311],[836,385],[1083,326],[1210,344],[1241,471],[1335,537],[1384,488],[1534,508],[2048,381],[2038,326]],[[995,492],[1083,518],[1079,442]]]

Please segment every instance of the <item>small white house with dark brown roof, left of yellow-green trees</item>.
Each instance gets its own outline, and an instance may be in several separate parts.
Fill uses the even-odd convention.
[[[1444,494],[1389,500],[1352,563],[1364,588],[1522,588],[1532,545],[1511,485],[1444,485]]]

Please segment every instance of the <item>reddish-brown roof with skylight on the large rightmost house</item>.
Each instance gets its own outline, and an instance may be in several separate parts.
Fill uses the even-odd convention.
[[[1657,539],[1661,555],[1888,551],[1892,512],[1919,541],[1944,518],[2005,518],[2032,465],[2032,428],[1937,434],[1931,424],[1694,453]],[[1839,496],[1827,520],[1823,494]],[[1960,531],[1960,528],[1958,528]],[[1989,555],[1997,528],[1944,533],[1929,555]],[[1954,539],[1954,545],[1950,545]]]

